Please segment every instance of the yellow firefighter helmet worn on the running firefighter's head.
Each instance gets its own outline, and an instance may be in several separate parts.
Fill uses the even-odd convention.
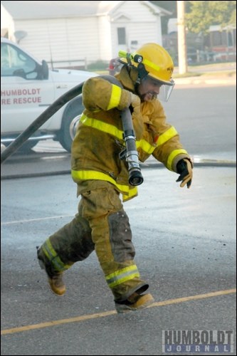
[[[174,63],[169,53],[157,43],[146,43],[134,53],[119,52],[120,62],[137,68],[140,79],[146,75],[167,85],[174,85]]]

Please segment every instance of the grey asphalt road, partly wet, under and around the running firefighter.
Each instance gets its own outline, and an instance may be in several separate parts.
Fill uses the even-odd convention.
[[[76,213],[70,155],[41,144],[4,162],[1,355],[161,355],[162,330],[233,331],[236,352],[235,88],[212,89],[177,90],[167,106],[196,162],[191,189],[150,162],[139,196],[125,204],[151,308],[117,315],[95,253],[65,273],[62,298],[51,294],[36,246]],[[177,354],[187,355],[164,355]]]

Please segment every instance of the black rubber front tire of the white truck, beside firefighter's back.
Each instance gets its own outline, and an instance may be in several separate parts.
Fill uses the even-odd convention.
[[[58,137],[60,144],[68,152],[71,151],[71,145],[73,142],[72,122],[78,120],[78,115],[81,115],[84,110],[82,99],[80,97],[72,101],[73,103],[71,103],[68,108],[66,108],[63,114],[62,125]]]

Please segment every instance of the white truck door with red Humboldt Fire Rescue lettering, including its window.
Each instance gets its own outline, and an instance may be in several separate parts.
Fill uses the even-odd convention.
[[[1,133],[22,132],[54,100],[53,80],[43,78],[41,64],[17,46],[1,43]]]

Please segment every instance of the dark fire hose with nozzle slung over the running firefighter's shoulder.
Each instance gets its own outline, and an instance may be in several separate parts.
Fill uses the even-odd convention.
[[[112,75],[100,75],[101,78],[113,83],[122,88],[120,82]],[[6,149],[1,153],[1,163],[3,163],[8,157],[10,157],[16,150],[23,145],[23,143],[28,140],[31,135],[33,135],[39,127],[41,127],[53,114],[55,114],[60,108],[63,107],[68,101],[75,98],[75,96],[82,94],[83,83],[80,83],[68,90],[68,92],[61,95],[53,104],[51,104],[44,112],[39,115],[36,120],[34,120],[31,125],[29,125],[26,130],[21,132],[21,134],[16,137],[16,140],[12,142]],[[139,185],[143,182],[143,177],[141,169],[139,167],[139,159],[136,147],[135,132],[132,125],[132,115],[129,108],[122,110],[121,112],[122,128],[124,132],[124,140],[126,149],[120,154],[120,159],[126,159],[129,171],[129,183],[131,185]]]

